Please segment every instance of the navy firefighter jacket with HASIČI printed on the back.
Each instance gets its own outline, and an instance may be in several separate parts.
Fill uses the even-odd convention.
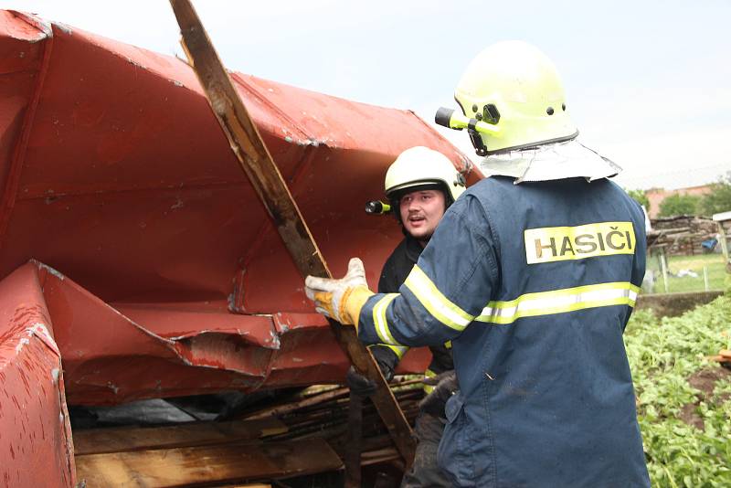
[[[447,211],[366,344],[451,341],[440,466],[457,486],[649,486],[622,333],[645,270],[641,208],[607,179],[494,176]]]

